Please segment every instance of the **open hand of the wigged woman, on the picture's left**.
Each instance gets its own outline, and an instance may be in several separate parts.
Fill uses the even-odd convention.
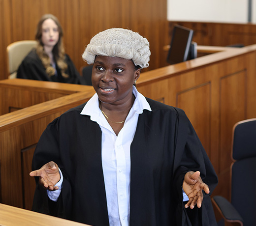
[[[38,176],[38,183],[46,190],[55,191],[59,189],[54,185],[61,179],[61,175],[58,165],[53,161],[46,163],[41,169],[30,172],[30,176]]]

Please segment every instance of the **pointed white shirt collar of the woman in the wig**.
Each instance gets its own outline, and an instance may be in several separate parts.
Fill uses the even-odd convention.
[[[134,103],[132,105],[132,109],[135,113],[141,114],[143,110],[148,110],[151,112],[151,108],[146,98],[138,92],[136,87],[133,85],[132,93],[135,96]],[[80,114],[91,116],[92,121],[96,121],[100,115],[100,109],[98,107],[98,95],[95,93],[93,97],[86,103],[83,110]]]

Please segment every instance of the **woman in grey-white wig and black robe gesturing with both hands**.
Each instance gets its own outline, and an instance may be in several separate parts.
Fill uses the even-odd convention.
[[[94,226],[216,225],[218,179],[192,124],[134,86],[149,57],[131,30],[92,38],[83,58],[96,94],[42,134],[33,210]]]

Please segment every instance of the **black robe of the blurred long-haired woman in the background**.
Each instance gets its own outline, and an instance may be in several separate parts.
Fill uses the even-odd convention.
[[[17,78],[58,83],[85,84],[83,78],[80,76],[72,60],[67,54],[65,55],[65,62],[67,64],[67,70],[65,73],[69,76],[68,78],[64,78],[62,76],[61,70],[57,64],[56,70],[58,75],[49,76],[46,74],[46,69],[42,64],[41,59],[36,54],[35,49],[32,49],[32,51],[21,62],[17,71]]]

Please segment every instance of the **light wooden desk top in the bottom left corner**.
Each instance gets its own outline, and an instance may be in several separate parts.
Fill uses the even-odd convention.
[[[89,226],[0,203],[0,226]]]

